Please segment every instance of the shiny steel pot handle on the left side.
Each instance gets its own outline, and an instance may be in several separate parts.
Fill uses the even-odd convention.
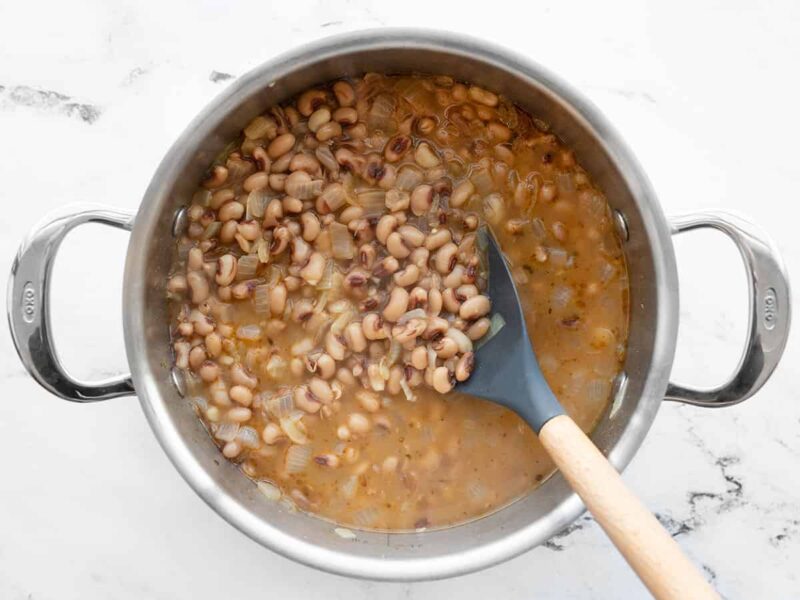
[[[104,381],[72,378],[55,352],[50,324],[50,275],[64,236],[84,223],[103,223],[126,231],[134,214],[91,204],[70,205],[48,216],[25,238],[11,267],[8,324],[25,368],[42,387],[74,402],[94,402],[134,393],[129,374]]]

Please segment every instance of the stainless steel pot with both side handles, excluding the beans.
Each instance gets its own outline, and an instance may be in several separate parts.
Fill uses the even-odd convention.
[[[267,63],[226,89],[175,142],[156,171],[139,212],[78,207],[35,230],[22,244],[9,285],[9,322],[17,350],[45,388],[89,402],[137,394],[165,452],[197,493],[242,532],[285,556],[333,573],[419,580],[475,571],[558,533],[583,510],[559,475],[507,508],[441,531],[358,532],[269,503],[211,442],[170,370],[165,280],[176,214],[210,161],[264,108],[297,92],[366,71],[448,74],[484,85],[548,121],[605,190],[624,237],[630,271],[630,339],[625,381],[592,439],[619,469],[638,449],[664,398],[727,406],[755,393],[783,352],[789,289],[775,247],[745,220],[701,213],[667,221],[644,173],[597,110],[559,79],[483,42],[434,32],[381,30],[330,38]],[[131,231],[125,265],[124,327],[131,375],[79,382],[53,349],[48,283],[64,235],[101,222]],[[730,236],[748,274],[750,324],[730,381],[708,391],[669,381],[678,329],[678,280],[671,236],[710,227]]]

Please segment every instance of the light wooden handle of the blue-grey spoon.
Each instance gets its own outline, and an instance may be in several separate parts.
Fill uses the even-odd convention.
[[[719,598],[572,419],[566,415],[550,419],[539,432],[539,439],[653,596],[670,600]]]

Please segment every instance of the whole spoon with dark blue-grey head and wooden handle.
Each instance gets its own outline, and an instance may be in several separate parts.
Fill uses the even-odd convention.
[[[499,315],[505,324],[476,350],[475,370],[456,390],[502,404],[530,425],[569,485],[653,596],[670,600],[719,598],[605,456],[566,415],[539,368],[517,289],[497,240],[486,228],[479,240],[488,262],[492,318],[496,321]]]

